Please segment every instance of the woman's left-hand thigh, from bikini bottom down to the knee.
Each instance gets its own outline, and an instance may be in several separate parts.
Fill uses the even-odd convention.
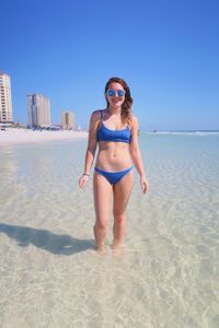
[[[112,185],[96,172],[93,175],[93,195],[96,222],[106,223],[111,208]]]

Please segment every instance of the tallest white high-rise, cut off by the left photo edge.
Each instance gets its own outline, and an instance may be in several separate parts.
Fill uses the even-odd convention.
[[[0,72],[0,124],[13,124],[10,77]]]

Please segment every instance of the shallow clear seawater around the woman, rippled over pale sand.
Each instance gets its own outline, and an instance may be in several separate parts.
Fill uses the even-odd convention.
[[[219,136],[142,134],[119,257],[93,250],[87,141],[0,148],[0,327],[219,327]]]

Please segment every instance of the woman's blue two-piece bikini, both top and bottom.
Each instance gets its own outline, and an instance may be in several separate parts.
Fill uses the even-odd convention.
[[[103,122],[103,110],[101,110],[101,127],[97,130],[96,140],[130,143],[130,129],[128,126],[122,130],[111,130],[106,128]],[[132,166],[119,172],[107,172],[99,167],[94,167],[94,169],[103,175],[111,185],[115,185],[132,169]]]

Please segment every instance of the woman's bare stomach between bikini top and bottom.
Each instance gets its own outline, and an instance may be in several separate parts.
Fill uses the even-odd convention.
[[[100,142],[96,167],[117,172],[131,166],[129,144],[122,142]]]

